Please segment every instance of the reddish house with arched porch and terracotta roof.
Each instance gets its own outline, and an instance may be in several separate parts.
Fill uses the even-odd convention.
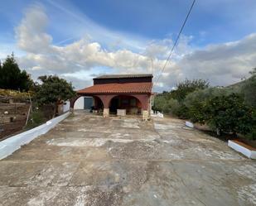
[[[109,114],[142,114],[147,119],[152,106],[152,74],[111,74],[94,78],[94,85],[77,91],[76,101],[85,108]],[[74,108],[75,100],[70,104]]]

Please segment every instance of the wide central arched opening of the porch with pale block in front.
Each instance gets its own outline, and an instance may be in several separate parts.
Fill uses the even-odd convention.
[[[125,109],[127,114],[141,114],[142,103],[132,95],[118,95],[109,103],[109,113],[117,114],[118,109]]]

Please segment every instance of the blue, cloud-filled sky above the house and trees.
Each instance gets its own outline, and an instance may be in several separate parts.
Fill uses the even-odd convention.
[[[184,79],[239,82],[256,66],[256,1],[2,0],[0,60],[12,54],[32,78],[57,74],[75,89],[100,74],[152,73],[153,90]],[[159,80],[157,81],[159,77]]]

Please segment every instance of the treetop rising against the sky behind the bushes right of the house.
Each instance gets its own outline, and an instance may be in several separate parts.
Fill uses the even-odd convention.
[[[197,89],[206,89],[209,87],[209,83],[203,79],[186,79],[184,82],[176,85],[176,90],[171,91],[171,98],[177,99],[182,102],[188,93],[192,93]]]

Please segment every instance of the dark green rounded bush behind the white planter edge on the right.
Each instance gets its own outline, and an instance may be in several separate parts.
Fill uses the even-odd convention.
[[[248,134],[253,128],[253,111],[238,94],[210,98],[204,110],[205,122],[220,132]]]

